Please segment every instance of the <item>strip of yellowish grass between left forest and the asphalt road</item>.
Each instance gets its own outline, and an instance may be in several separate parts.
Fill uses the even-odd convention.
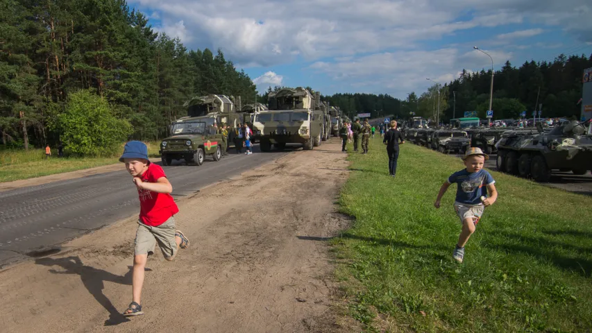
[[[147,142],[151,158],[158,158],[158,142]],[[48,176],[56,173],[76,171],[115,164],[124,144],[106,157],[59,157],[58,148],[51,147],[51,157],[45,159],[45,149],[0,150],[0,182]]]

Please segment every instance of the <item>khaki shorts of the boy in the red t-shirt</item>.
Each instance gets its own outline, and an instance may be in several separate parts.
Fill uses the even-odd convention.
[[[171,216],[157,227],[145,225],[140,220],[137,221],[137,224],[134,255],[154,253],[154,247],[157,243],[165,259],[172,260],[177,255],[178,246],[175,241],[174,216]]]

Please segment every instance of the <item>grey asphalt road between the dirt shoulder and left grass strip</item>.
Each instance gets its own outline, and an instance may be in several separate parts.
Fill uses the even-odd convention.
[[[219,162],[208,156],[200,167],[177,161],[163,168],[178,200],[290,150],[260,153],[255,145],[253,155],[232,151]],[[138,212],[137,190],[123,165],[121,171],[1,192],[0,268]]]

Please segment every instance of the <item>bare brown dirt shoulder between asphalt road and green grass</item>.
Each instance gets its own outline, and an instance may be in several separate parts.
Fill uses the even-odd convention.
[[[135,221],[0,271],[7,332],[328,332],[332,265],[323,241],[345,227],[334,202],[348,177],[337,140],[209,187],[176,216],[191,248],[149,258],[146,314],[131,301]],[[106,325],[106,326],[105,326]]]

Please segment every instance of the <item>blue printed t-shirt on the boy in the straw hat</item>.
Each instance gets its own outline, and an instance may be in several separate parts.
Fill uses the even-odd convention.
[[[457,203],[479,205],[482,196],[487,198],[487,185],[496,181],[484,169],[473,173],[463,169],[453,173],[448,178],[448,182],[450,184],[457,183]]]

